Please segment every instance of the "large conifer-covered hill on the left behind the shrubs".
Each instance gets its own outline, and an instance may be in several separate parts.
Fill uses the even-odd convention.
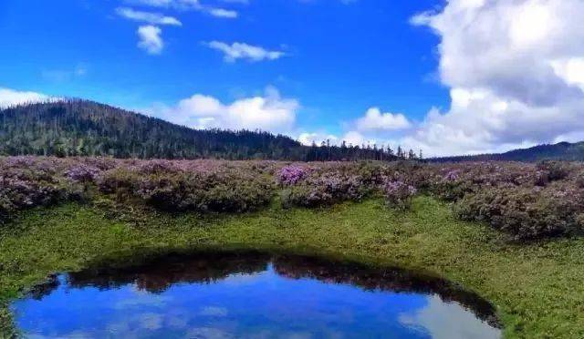
[[[394,159],[380,149],[306,147],[257,131],[197,130],[86,100],[0,110],[0,155],[141,159]]]

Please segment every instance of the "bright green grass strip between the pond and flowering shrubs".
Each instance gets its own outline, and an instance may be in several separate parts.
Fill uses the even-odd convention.
[[[431,198],[415,199],[405,212],[367,200],[239,216],[152,213],[144,220],[130,226],[77,204],[27,212],[0,233],[0,300],[50,272],[145,250],[277,250],[435,272],[493,302],[507,337],[584,337],[584,239],[509,243],[483,225],[457,221]],[[0,310],[2,322],[9,317]]]

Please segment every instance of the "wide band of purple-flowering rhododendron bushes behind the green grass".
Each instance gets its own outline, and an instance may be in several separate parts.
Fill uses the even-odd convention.
[[[584,230],[580,163],[0,158],[0,222],[65,200],[244,212],[276,197],[285,207],[384,197],[390,206],[407,209],[415,194],[452,201],[460,218],[487,222],[518,240]]]

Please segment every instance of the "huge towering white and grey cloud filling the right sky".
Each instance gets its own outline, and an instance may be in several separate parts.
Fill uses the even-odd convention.
[[[433,154],[498,151],[584,128],[584,2],[450,0],[412,23],[442,39],[451,108],[404,142]]]

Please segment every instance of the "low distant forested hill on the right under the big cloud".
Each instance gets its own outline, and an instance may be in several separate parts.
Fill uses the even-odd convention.
[[[506,153],[480,154],[474,156],[431,159],[434,162],[459,161],[524,161],[536,162],[544,159],[584,161],[584,141],[577,143],[560,142],[554,145],[539,145],[529,149],[514,149]]]

